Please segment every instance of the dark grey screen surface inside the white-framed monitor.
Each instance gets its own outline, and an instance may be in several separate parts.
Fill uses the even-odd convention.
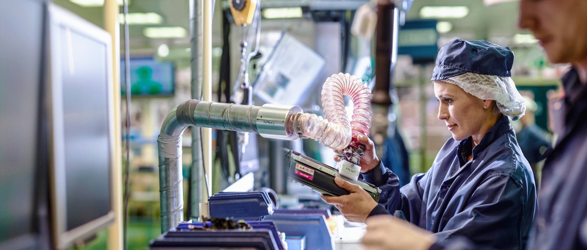
[[[109,69],[106,44],[64,26],[58,32],[69,231],[110,211]]]

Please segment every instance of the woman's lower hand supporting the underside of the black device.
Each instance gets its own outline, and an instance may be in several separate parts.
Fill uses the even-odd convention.
[[[321,194],[322,200],[338,208],[340,213],[345,215],[346,220],[365,222],[367,215],[377,206],[377,202],[359,185],[349,183],[349,181],[340,179],[338,176],[335,177],[334,181],[337,186],[346,189],[350,194],[339,197]]]

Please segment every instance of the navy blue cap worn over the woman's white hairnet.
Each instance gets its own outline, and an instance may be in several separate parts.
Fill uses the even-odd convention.
[[[440,49],[431,81],[445,80],[464,73],[511,77],[514,53],[485,40],[456,39]]]

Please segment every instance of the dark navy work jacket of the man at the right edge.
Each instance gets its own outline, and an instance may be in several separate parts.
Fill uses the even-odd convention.
[[[558,141],[546,158],[528,249],[587,249],[587,85],[572,69],[554,105]]]

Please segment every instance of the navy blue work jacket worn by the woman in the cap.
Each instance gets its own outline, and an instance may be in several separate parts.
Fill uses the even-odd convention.
[[[479,145],[448,139],[426,173],[399,189],[383,166],[363,174],[382,190],[369,216],[403,212],[406,220],[436,233],[437,241],[464,236],[499,249],[524,247],[536,208],[532,170],[514,130],[502,116]],[[467,161],[467,156],[473,158]]]

